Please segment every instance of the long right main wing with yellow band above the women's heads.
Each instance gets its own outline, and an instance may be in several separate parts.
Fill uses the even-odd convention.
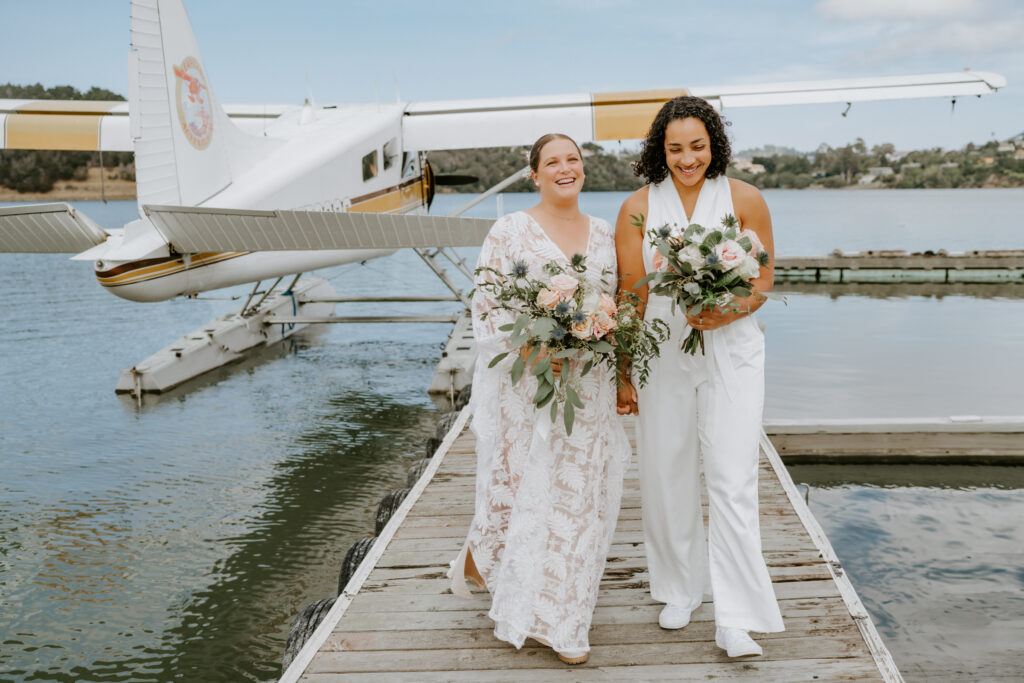
[[[415,102],[402,120],[409,150],[462,150],[530,144],[561,132],[579,142],[637,139],[666,101],[696,95],[718,109],[915,97],[984,95],[1007,84],[987,72],[859,78],[799,83],[634,90],[629,92]]]

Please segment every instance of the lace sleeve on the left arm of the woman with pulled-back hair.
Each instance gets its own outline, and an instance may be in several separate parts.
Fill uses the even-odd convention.
[[[490,228],[480,249],[480,257],[476,262],[477,268],[486,266],[502,273],[509,272],[512,263],[512,240],[507,227],[508,222],[500,220]],[[515,321],[511,311],[499,308],[498,302],[490,295],[490,292],[486,288],[480,287],[493,282],[495,282],[494,273],[478,273],[474,281],[476,287],[473,290],[472,301],[473,336],[476,338],[481,358],[487,362],[497,354],[509,350],[509,333],[502,332],[499,328]],[[506,359],[504,362],[511,362],[511,360]]]

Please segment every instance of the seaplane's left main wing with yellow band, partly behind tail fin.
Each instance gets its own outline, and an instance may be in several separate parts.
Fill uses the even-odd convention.
[[[227,117],[262,135],[286,104],[233,104]],[[132,152],[128,102],[89,99],[0,99],[0,150]]]

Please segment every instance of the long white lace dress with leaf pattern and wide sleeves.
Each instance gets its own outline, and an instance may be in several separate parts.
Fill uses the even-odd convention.
[[[553,260],[567,264],[543,228],[517,212],[492,227],[478,265],[510,272],[513,263],[523,262],[530,278],[547,280],[542,268]],[[615,275],[602,284],[604,268],[615,273],[613,231],[606,221],[591,217],[587,276],[613,296]],[[481,319],[494,304],[477,288],[476,507],[466,545],[493,596],[495,636],[516,647],[532,637],[558,651],[587,650],[632,452],[615,413],[614,372],[596,366],[581,379],[585,408],[575,414],[572,435],[566,435],[560,412],[552,424],[547,409],[534,408],[537,380],[530,373],[512,384],[512,354],[487,368],[508,350],[508,333],[498,328],[512,319],[508,312]],[[464,556],[465,551],[460,561]],[[463,594],[464,584],[453,590]]]

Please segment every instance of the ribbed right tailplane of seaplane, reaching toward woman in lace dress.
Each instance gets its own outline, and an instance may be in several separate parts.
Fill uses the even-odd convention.
[[[331,211],[142,207],[182,254],[223,251],[476,247],[493,220]]]

